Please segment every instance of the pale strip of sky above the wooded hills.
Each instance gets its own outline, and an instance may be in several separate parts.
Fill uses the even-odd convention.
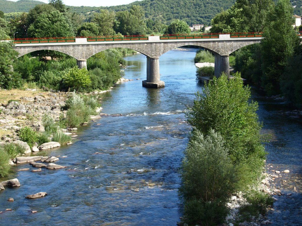
[[[13,2],[17,2],[18,0],[11,0]],[[48,0],[37,0],[40,2],[45,2],[48,3]],[[131,2],[135,2],[136,0],[63,0],[63,3],[65,5],[70,5],[70,6],[112,6],[112,5],[126,5]],[[138,0],[141,1],[141,0]]]

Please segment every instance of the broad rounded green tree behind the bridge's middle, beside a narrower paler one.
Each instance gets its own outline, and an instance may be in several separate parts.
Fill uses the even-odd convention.
[[[117,12],[115,31],[123,35],[146,34],[144,17],[143,8],[138,5],[133,5],[129,11]]]

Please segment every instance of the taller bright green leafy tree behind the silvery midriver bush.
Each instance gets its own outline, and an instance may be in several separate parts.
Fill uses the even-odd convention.
[[[253,170],[261,170],[265,152],[256,114],[258,104],[250,100],[250,88],[243,86],[240,73],[229,81],[224,74],[214,77],[205,84],[203,93],[197,93],[194,106],[186,113],[188,123],[205,135],[211,129],[219,132],[233,162],[255,164],[258,168]]]

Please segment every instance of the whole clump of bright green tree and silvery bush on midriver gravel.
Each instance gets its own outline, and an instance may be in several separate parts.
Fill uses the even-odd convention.
[[[228,196],[259,179],[265,152],[257,108],[238,73],[230,80],[225,74],[214,77],[204,84],[203,95],[196,94],[186,112],[193,135],[185,150],[179,189],[185,223],[221,224]]]

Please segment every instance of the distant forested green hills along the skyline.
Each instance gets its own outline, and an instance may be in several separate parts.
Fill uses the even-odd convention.
[[[274,0],[275,2],[277,0]],[[302,14],[302,0],[290,0],[294,7],[294,13]],[[67,6],[72,12],[86,14],[88,12],[98,12],[101,9],[108,11],[124,11],[132,5],[140,5],[146,13],[146,18],[158,19],[169,24],[173,19],[185,20],[191,24],[210,24],[211,19],[221,11],[230,8],[236,0],[143,0],[127,5],[117,5],[110,7],[90,7],[90,6]],[[46,4],[34,0],[19,0],[12,2],[0,0],[0,10],[9,12],[28,12],[35,5]]]

